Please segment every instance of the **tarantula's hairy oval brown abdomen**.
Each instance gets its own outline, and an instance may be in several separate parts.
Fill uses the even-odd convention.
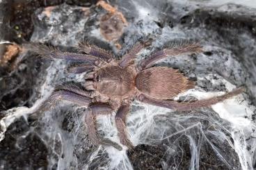
[[[176,69],[152,67],[136,76],[136,87],[154,99],[172,99],[180,92],[193,88],[194,83]]]

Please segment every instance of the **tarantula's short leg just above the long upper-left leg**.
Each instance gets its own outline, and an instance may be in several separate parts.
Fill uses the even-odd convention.
[[[102,60],[106,62],[111,62],[111,60],[113,60],[114,58],[113,53],[106,51],[105,49],[101,49],[98,46],[90,45],[86,42],[79,43],[77,49],[79,49],[79,51],[87,53],[88,55],[102,58]]]

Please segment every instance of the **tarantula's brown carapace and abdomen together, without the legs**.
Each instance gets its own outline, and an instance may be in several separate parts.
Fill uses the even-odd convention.
[[[110,65],[99,69],[94,74],[94,81],[94,88],[99,94],[119,99],[121,103],[136,94],[161,100],[173,99],[194,87],[194,83],[177,69],[168,67],[152,67],[137,74],[133,67]]]

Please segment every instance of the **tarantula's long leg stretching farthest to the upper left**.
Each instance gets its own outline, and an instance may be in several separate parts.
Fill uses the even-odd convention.
[[[86,62],[88,65],[100,66],[104,64],[104,61],[96,56],[90,56],[88,54],[81,53],[69,53],[61,52],[58,49],[53,47],[45,46],[42,44],[30,44],[26,46],[27,49],[35,51],[42,58],[51,58],[51,59],[63,59],[69,62]]]

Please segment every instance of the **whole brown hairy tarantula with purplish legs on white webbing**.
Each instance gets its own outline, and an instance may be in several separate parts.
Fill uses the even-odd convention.
[[[58,87],[39,109],[52,107],[58,101],[85,106],[87,108],[85,123],[88,126],[88,137],[93,144],[100,142],[95,117],[99,114],[116,112],[115,125],[120,142],[131,148],[133,145],[127,136],[125,124],[132,101],[138,100],[163,108],[184,111],[214,105],[243,92],[241,87],[211,99],[191,103],[174,101],[173,98],[177,94],[194,87],[193,81],[183,76],[177,69],[152,66],[167,56],[200,53],[202,48],[198,43],[187,43],[162,49],[136,65],[134,62],[136,55],[150,44],[150,40],[137,42],[121,60],[115,60],[109,51],[86,43],[79,44],[81,53],[61,52],[47,46],[33,48],[33,51],[41,56],[79,63],[80,65],[67,69],[70,73],[88,72],[84,76],[84,82],[81,83],[82,87],[77,85]]]

